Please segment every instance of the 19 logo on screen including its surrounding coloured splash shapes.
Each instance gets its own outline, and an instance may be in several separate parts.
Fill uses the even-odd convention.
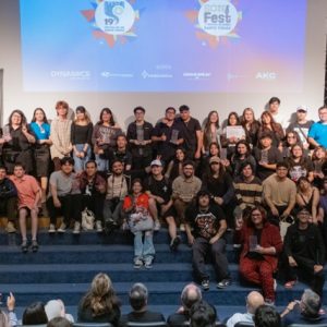
[[[133,9],[136,0],[96,0],[93,9],[82,10],[83,16],[93,27],[96,39],[105,39],[110,48],[118,41],[124,45],[129,38],[135,38],[135,22],[140,20],[140,11]]]

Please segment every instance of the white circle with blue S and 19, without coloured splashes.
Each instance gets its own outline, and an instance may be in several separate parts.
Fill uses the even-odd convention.
[[[105,33],[120,35],[132,28],[135,13],[125,0],[105,0],[96,9],[95,21]]]

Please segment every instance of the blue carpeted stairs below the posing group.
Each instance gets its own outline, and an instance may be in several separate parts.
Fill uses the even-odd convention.
[[[229,240],[231,238],[229,235]],[[122,311],[129,312],[128,291],[136,281],[146,283],[149,290],[149,304],[153,310],[166,316],[180,305],[182,288],[193,280],[192,252],[185,245],[171,253],[167,230],[155,233],[156,259],[153,269],[133,268],[133,237],[129,232],[99,235],[96,232],[71,232],[49,235],[40,231],[38,253],[23,254],[20,235],[0,233],[0,292],[5,296],[15,294],[19,312],[33,301],[47,302],[62,299],[70,313],[76,314],[76,305],[88,289],[93,277],[107,272],[122,301]],[[231,242],[229,242],[231,243]],[[118,245],[119,244],[119,245]],[[227,246],[232,286],[218,290],[210,265],[210,290],[204,298],[217,307],[220,319],[233,312],[245,311],[245,296],[254,289],[240,281],[238,272],[238,252]],[[307,286],[298,283],[292,290],[277,287],[277,306],[283,307],[289,301],[300,299]],[[327,299],[327,288],[325,290]]]

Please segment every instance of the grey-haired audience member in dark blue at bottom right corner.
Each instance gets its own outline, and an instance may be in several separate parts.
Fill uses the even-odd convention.
[[[290,302],[280,314],[282,326],[290,326],[293,324],[303,326],[326,325],[327,315],[322,313],[320,308],[320,296],[312,290],[305,290],[301,296],[301,301]]]

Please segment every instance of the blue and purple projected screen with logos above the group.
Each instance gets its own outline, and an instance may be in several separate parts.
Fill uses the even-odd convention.
[[[26,92],[302,92],[306,0],[21,0]]]

